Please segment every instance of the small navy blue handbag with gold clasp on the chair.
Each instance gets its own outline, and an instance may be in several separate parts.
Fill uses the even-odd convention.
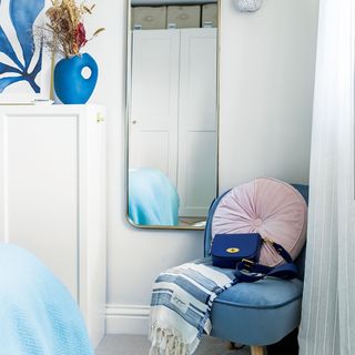
[[[258,233],[216,234],[211,248],[213,265],[235,268],[243,258],[257,262],[262,242]]]

